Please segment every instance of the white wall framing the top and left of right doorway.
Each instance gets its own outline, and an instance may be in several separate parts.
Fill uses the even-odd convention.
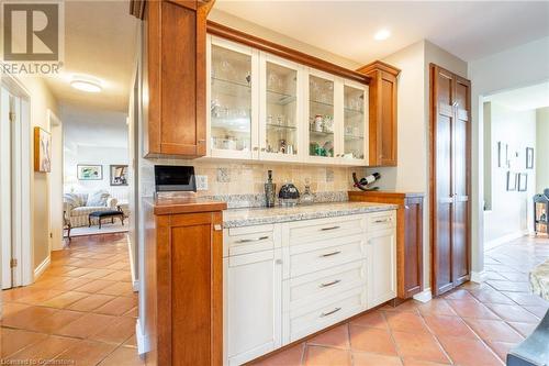
[[[549,79],[549,37],[469,62],[472,131],[472,268],[484,269],[484,164],[482,97]]]

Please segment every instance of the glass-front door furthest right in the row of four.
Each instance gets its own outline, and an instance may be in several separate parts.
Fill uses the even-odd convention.
[[[366,159],[366,100],[363,87],[344,86],[344,159]]]

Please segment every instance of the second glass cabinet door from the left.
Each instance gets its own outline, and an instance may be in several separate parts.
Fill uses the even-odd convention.
[[[300,149],[298,67],[265,54],[261,60],[260,154],[268,159],[294,160]]]

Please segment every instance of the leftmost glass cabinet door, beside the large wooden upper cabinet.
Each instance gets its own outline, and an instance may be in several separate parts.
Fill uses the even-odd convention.
[[[253,56],[211,45],[210,133],[212,156],[251,157]]]

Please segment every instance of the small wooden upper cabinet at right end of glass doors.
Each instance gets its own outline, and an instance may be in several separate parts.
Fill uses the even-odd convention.
[[[400,70],[377,60],[357,71],[371,78],[369,165],[396,166],[396,77]]]

